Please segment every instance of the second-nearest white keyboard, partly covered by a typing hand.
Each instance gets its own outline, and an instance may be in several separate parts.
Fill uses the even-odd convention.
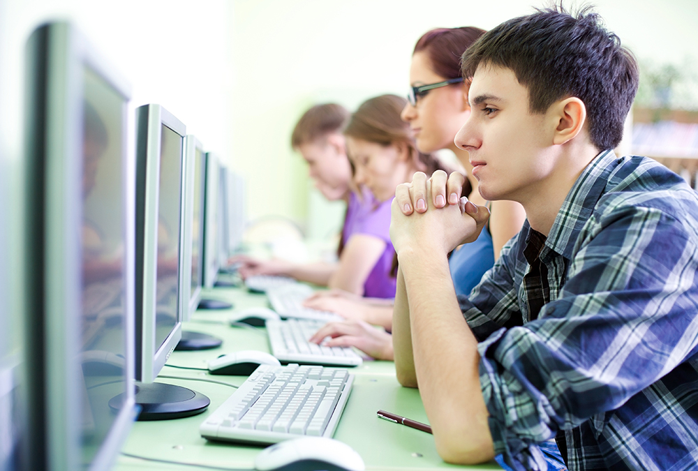
[[[351,347],[324,347],[309,338],[325,324],[322,320],[267,320],[267,335],[272,354],[282,363],[326,366],[359,366],[360,357]]]

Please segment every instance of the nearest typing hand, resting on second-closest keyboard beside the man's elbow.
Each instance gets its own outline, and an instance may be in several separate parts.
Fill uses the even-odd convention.
[[[394,359],[392,335],[362,320],[329,322],[309,340],[327,347],[356,347],[378,360]]]

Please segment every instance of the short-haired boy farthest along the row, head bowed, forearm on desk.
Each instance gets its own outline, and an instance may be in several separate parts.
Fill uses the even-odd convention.
[[[337,250],[339,262],[299,264],[256,260],[245,255],[232,257],[231,262],[242,262],[239,272],[243,278],[260,274],[285,275],[359,295],[394,297],[394,287],[387,291],[373,290],[369,282],[369,275],[389,241],[389,214],[388,209],[382,216],[374,214],[375,201],[371,194],[368,191],[357,194],[354,190],[342,134],[349,117],[349,112],[341,105],[315,105],[303,114],[291,135],[291,145],[308,163],[310,177],[320,193],[327,200],[347,203]]]

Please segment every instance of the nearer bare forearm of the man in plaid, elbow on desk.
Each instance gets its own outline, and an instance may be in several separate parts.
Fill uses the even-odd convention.
[[[481,463],[492,458],[493,444],[480,389],[477,341],[456,300],[448,261],[435,252],[401,253],[399,259],[413,368],[439,454],[452,463]]]

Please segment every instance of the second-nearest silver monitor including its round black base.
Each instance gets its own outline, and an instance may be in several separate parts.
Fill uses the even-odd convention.
[[[191,389],[154,383],[181,338],[188,306],[184,274],[184,124],[161,105],[136,110],[135,378],[139,420],[203,412],[209,399]]]

